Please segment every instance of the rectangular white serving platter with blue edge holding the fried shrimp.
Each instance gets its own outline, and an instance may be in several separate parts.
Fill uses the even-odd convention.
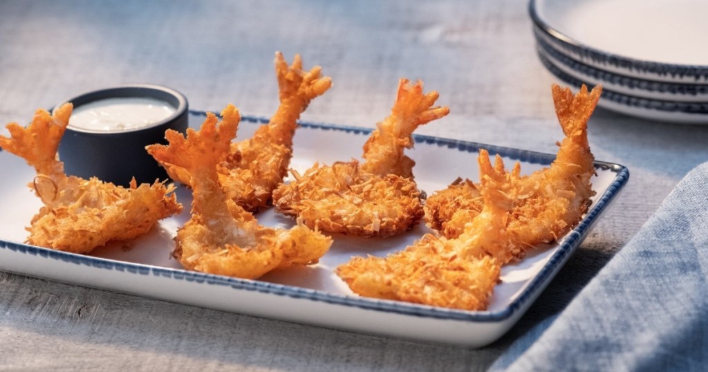
[[[190,126],[198,127],[205,113],[190,112]],[[244,116],[239,138],[250,137],[267,120]],[[559,127],[559,136],[562,133]],[[314,162],[331,164],[358,158],[370,130],[339,125],[301,123],[295,135],[291,168],[304,171]],[[474,142],[414,136],[416,148],[407,152],[416,161],[413,172],[428,195],[445,188],[458,176],[478,179],[476,152],[486,148],[501,154],[507,164],[518,161],[529,174],[550,164],[555,155]],[[533,303],[571,253],[588,235],[600,215],[615,200],[629,178],[619,164],[595,162],[593,189],[597,194],[583,220],[556,244],[532,249],[518,263],[503,267],[501,283],[488,310],[435,308],[353,294],[334,269],[353,256],[384,257],[404,249],[426,232],[418,225],[398,237],[366,239],[333,235],[330,251],[318,264],[275,271],[258,280],[185,271],[170,257],[176,230],[189,218],[190,191],[179,187],[181,215],[161,220],[147,235],[132,242],[115,242],[91,255],[58,252],[24,244],[24,227],[41,203],[27,187],[35,174],[23,159],[0,152],[0,167],[11,177],[0,183],[0,270],[103,288],[122,293],[300,322],[355,332],[480,347],[501,337]],[[273,209],[256,215],[263,225],[290,227],[292,219]]]

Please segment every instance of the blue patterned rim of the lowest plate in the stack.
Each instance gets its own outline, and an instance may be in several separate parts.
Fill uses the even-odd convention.
[[[543,50],[539,47],[538,57],[542,64],[548,69],[549,72],[554,74],[558,79],[561,79],[566,84],[579,87],[582,84],[586,84],[585,81],[581,81],[576,77],[572,77],[566,74],[561,69],[556,67],[553,62],[551,62],[546,56],[543,55]],[[647,110],[663,111],[666,113],[687,113],[691,115],[706,115],[708,114],[708,102],[678,102],[678,101],[661,101],[658,99],[640,98],[635,96],[629,96],[627,94],[617,93],[616,91],[611,91],[609,89],[603,88],[603,97],[600,99],[606,99],[615,103],[619,103],[624,106],[644,108]]]

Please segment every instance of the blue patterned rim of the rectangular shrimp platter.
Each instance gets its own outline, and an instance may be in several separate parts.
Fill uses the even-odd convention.
[[[218,111],[217,111],[218,112]],[[202,111],[190,111],[192,115],[205,116]],[[257,118],[253,116],[243,116],[242,121],[247,123],[261,124],[268,123],[268,119]],[[367,128],[356,128],[341,125],[329,125],[321,123],[300,123],[304,128],[312,128],[317,130],[336,130],[357,135],[368,135],[371,133]],[[554,154],[545,154],[542,152],[530,152],[508,147],[498,147],[484,145],[476,142],[464,142],[459,140],[447,140],[438,137],[430,137],[424,135],[413,135],[416,143],[426,143],[448,148],[454,148],[464,152],[477,152],[480,148],[485,148],[490,152],[501,154],[504,157],[511,159],[519,159],[524,162],[536,164],[550,164],[555,158]],[[412,315],[416,317],[430,317],[445,320],[462,320],[471,322],[499,322],[508,319],[516,312],[520,311],[527,302],[537,295],[544,287],[544,283],[550,281],[556,272],[560,269],[559,265],[578,247],[582,239],[588,234],[590,227],[598,220],[601,213],[607,208],[607,205],[617,196],[617,193],[622,187],[627,184],[629,179],[629,170],[619,164],[607,162],[595,162],[595,168],[606,169],[616,174],[615,181],[610,187],[600,196],[596,205],[588,211],[583,220],[563,239],[559,249],[549,259],[547,264],[539,271],[529,283],[527,288],[521,293],[518,298],[513,300],[503,310],[491,311],[465,311],[453,310],[447,308],[435,308],[428,305],[416,305],[411,303],[403,303],[390,300],[377,300],[375,298],[353,297],[346,295],[336,295],[323,291],[316,291],[307,288],[299,288],[295,286],[285,286],[282,284],[273,284],[263,281],[255,281],[248,279],[232,278],[228,276],[219,276],[212,274],[203,274],[195,271],[185,271],[181,269],[167,269],[158,266],[150,266],[144,264],[132,264],[123,261],[115,261],[111,259],[101,259],[96,257],[84,256],[81,254],[73,254],[67,252],[55,251],[42,247],[35,247],[28,244],[8,242],[0,240],[0,249],[10,249],[13,252],[21,252],[23,254],[31,254],[34,256],[44,257],[46,259],[54,259],[57,261],[69,262],[77,265],[91,266],[98,269],[116,270],[127,272],[130,274],[144,276],[161,276],[173,278],[180,281],[188,281],[195,283],[205,283],[212,286],[229,286],[237,290],[256,291],[260,293],[268,293],[272,295],[284,295],[290,298],[302,298],[313,301],[321,301],[334,305],[351,306],[366,310],[377,310],[383,312],[394,312],[401,315]]]

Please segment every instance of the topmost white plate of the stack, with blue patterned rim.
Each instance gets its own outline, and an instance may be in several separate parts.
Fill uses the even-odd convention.
[[[569,57],[629,77],[708,83],[704,0],[530,0],[546,41]]]

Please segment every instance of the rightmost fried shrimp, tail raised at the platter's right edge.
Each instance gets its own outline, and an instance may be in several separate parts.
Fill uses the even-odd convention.
[[[582,86],[576,96],[568,88],[552,86],[556,115],[565,139],[549,168],[514,181],[518,197],[510,210],[507,230],[515,257],[542,242],[554,242],[581,220],[595,195],[590,177],[594,157],[588,144],[587,124],[600,98],[601,86],[588,92]],[[471,181],[456,181],[426,202],[430,227],[446,237],[456,237],[482,208],[479,187]]]

